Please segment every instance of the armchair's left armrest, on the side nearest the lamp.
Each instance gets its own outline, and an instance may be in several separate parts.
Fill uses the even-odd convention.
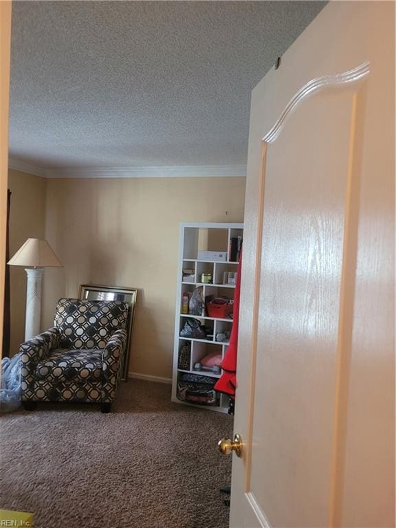
[[[59,339],[59,330],[53,327],[21,344],[19,354],[21,355],[22,399],[32,398],[36,365],[50,355],[50,351],[59,347]]]

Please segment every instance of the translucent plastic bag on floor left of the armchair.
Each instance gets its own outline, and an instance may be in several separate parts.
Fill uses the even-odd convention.
[[[21,355],[1,360],[0,412],[21,406]]]

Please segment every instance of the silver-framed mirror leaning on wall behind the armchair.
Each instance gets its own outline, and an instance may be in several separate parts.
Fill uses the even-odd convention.
[[[135,315],[137,289],[135,288],[118,288],[115,286],[92,286],[82,284],[80,286],[80,299],[87,300],[121,300],[129,305],[128,327],[126,328],[126,347],[124,353],[124,362],[122,364],[121,379],[128,380],[129,366],[129,349],[131,348],[131,336],[133,328],[133,317]]]

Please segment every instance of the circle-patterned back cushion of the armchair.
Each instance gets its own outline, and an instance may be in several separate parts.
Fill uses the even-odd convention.
[[[63,349],[104,349],[115,330],[126,329],[129,307],[120,300],[60,299],[54,325]]]

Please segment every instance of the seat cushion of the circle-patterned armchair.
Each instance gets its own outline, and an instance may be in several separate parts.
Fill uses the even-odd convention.
[[[46,382],[98,382],[102,374],[102,350],[56,349],[36,366],[36,380]]]

